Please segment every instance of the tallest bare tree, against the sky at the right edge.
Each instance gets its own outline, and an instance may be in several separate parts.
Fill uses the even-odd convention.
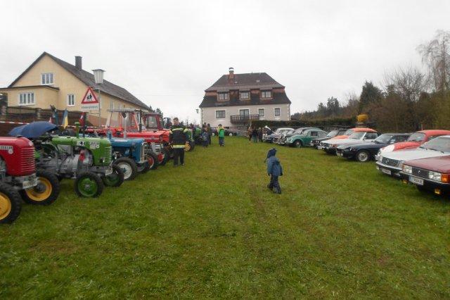
[[[421,44],[417,50],[422,55],[423,63],[430,68],[430,77],[437,91],[449,90],[450,77],[450,32],[437,30],[435,38]]]

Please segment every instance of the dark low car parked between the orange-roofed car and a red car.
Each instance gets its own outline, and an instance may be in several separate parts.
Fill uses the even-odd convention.
[[[377,137],[373,142],[340,145],[336,149],[336,155],[364,163],[375,158],[375,154],[384,146],[404,142],[409,136],[409,133],[385,133]]]

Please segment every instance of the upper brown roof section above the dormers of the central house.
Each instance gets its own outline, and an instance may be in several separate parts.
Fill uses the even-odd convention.
[[[283,88],[267,73],[243,73],[235,74],[233,80],[229,80],[229,75],[222,75],[214,85],[208,87],[205,92],[228,91],[230,89],[273,89]]]

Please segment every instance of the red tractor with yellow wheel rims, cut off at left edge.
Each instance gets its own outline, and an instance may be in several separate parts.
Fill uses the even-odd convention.
[[[29,204],[48,205],[58,198],[58,178],[34,165],[34,146],[25,137],[0,137],[0,223],[20,214],[21,198]]]

